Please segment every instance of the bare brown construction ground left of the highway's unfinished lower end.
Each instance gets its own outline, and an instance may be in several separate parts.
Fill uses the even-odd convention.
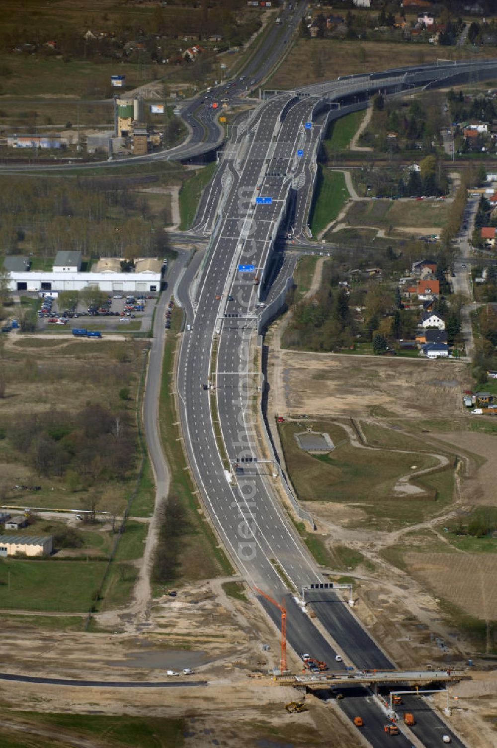
[[[179,675],[171,681],[206,681],[206,685],[165,690],[0,681],[4,704],[0,735],[5,735],[8,724],[26,728],[22,713],[13,710],[27,710],[38,712],[40,720],[43,713],[54,712],[182,720],[181,742],[149,744],[164,748],[204,748],[212,741],[232,748],[256,747],[261,741],[271,740],[303,748],[309,744],[327,745],[330,733],[337,736],[340,746],[356,746],[353,730],[336,702],[324,703],[308,696],[307,711],[295,715],[285,711],[285,704],[300,699],[300,695],[291,688],[277,686],[265,675],[279,662],[278,631],[253,598],[247,602],[230,598],[223,592],[222,583],[223,580],[212,580],[182,589],[176,598],[165,596],[155,601],[149,625],[134,625],[126,611],[97,616],[96,626],[102,631],[97,628],[91,634],[26,625],[19,623],[16,616],[2,619],[1,652],[7,672],[166,681],[167,669],[182,673],[188,667],[194,670],[193,675]],[[123,633],[114,633],[113,627]],[[263,643],[268,644],[268,652],[262,651]],[[288,652],[288,657],[292,669],[297,669],[297,654]],[[40,735],[36,720],[30,719],[28,728]],[[70,733],[59,734],[56,730],[53,737],[64,746],[107,748],[104,734],[90,735],[87,743],[78,743]],[[84,723],[79,726],[77,737],[86,737]],[[25,746],[22,734],[20,738],[19,748]],[[135,745],[131,739],[123,743],[126,747]],[[45,748],[45,744],[40,744],[40,748]]]

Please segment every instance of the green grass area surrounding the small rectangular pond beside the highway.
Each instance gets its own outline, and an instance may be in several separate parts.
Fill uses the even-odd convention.
[[[425,487],[431,496],[436,491],[434,500],[427,499],[426,494],[419,494],[422,498],[416,494],[404,497],[392,491],[398,478],[412,472],[413,464],[417,470],[437,465],[431,456],[358,450],[351,446],[341,426],[314,420],[312,428],[330,434],[336,449],[330,455],[311,456],[300,450],[294,438],[303,430],[301,424],[286,422],[278,428],[291,482],[300,500],[338,502],[361,509],[365,516],[354,520],[356,527],[381,527],[383,530],[406,527],[439,512],[451,500],[452,470],[416,479],[416,485]]]

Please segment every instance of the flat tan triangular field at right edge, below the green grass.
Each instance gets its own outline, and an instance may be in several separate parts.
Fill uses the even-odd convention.
[[[405,554],[416,575],[438,594],[475,618],[497,619],[492,580],[497,575],[494,554]]]

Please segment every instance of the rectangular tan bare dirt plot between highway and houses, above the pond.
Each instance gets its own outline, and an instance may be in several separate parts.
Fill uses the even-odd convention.
[[[273,376],[280,376],[280,381]],[[278,349],[268,375],[279,414],[453,418],[463,414],[466,364]]]

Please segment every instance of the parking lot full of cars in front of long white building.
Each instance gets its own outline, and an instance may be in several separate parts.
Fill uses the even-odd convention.
[[[73,328],[98,328],[122,332],[129,328],[148,332],[157,298],[157,294],[109,293],[101,307],[87,307],[79,303],[75,308],[61,309],[57,298],[47,295],[38,312],[37,330],[55,332],[64,328],[70,332]]]

